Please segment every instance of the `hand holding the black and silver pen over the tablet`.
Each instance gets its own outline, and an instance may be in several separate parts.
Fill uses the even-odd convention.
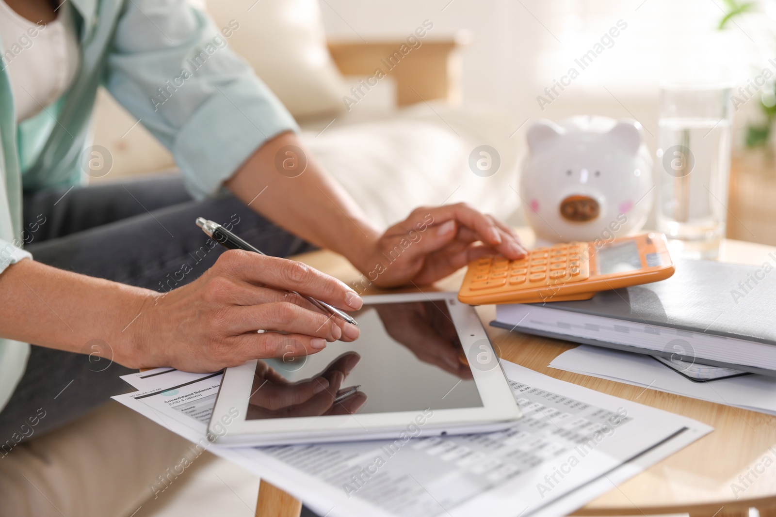
[[[144,306],[134,326],[133,367],[217,371],[267,357],[303,356],[359,329],[289,291],[352,311],[362,300],[341,281],[300,262],[229,250],[201,277]],[[263,333],[257,331],[264,330]]]

